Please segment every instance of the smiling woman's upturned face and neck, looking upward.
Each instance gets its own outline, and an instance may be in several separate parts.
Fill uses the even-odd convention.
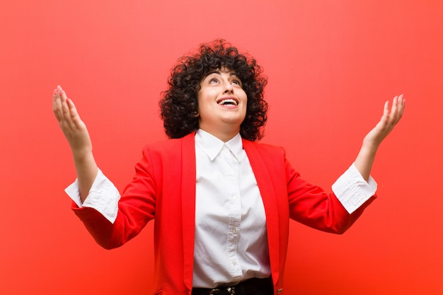
[[[200,81],[197,93],[199,127],[217,136],[238,133],[246,117],[248,97],[234,71],[217,69]]]

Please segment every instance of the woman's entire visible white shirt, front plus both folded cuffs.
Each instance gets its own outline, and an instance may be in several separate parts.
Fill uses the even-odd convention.
[[[197,131],[196,209],[193,287],[214,288],[251,277],[269,277],[265,209],[240,134],[223,141]],[[333,184],[333,192],[352,213],[374,195],[352,164]],[[77,180],[65,190],[79,207],[91,207],[114,222],[120,193],[98,170],[81,203]]]

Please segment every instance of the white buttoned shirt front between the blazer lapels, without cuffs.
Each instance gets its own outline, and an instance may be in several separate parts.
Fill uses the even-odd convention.
[[[193,287],[270,276],[265,207],[240,134],[224,143],[195,135]]]

